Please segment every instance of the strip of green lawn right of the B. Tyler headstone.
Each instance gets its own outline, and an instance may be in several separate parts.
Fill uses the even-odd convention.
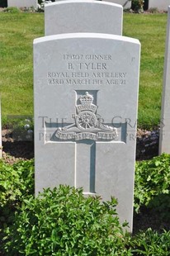
[[[167,14],[125,14],[124,36],[141,43],[139,126],[160,121]]]

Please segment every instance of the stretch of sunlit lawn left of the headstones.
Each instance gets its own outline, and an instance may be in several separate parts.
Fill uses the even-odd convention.
[[[2,121],[33,114],[33,40],[44,36],[43,13],[0,12]]]

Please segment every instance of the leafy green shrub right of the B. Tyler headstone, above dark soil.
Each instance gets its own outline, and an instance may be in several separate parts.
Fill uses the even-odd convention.
[[[148,206],[163,218],[170,212],[170,155],[138,162],[135,171],[135,211]]]

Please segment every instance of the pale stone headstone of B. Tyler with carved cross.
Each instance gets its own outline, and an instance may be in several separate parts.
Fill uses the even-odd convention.
[[[118,198],[132,230],[139,40],[76,33],[34,41],[35,194],[68,184]]]

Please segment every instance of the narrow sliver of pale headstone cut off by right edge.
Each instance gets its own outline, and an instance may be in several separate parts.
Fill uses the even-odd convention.
[[[168,7],[167,40],[163,73],[163,96],[161,129],[159,135],[159,154],[170,154],[170,7]]]

